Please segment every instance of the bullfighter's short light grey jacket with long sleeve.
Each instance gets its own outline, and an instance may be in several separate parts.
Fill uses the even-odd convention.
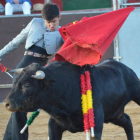
[[[43,37],[44,41],[39,41]],[[0,59],[19,48],[25,42],[25,49],[30,48],[38,42],[38,44],[41,43],[39,46],[43,46],[48,54],[54,54],[63,44],[63,39],[58,30],[53,32],[48,31],[45,21],[42,18],[34,18],[20,34],[0,50]]]

